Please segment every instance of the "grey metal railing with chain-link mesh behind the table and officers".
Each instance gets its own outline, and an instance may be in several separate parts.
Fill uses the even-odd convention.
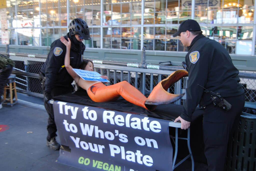
[[[10,59],[15,61],[13,73],[16,74],[17,91],[42,97],[38,73],[47,56],[21,53],[9,53],[9,55]],[[183,69],[182,66],[152,66],[145,63],[145,52],[142,52],[142,62],[140,64],[94,61],[94,70],[101,75],[107,75],[110,81],[109,85],[125,80],[140,90],[145,96],[149,95],[154,86],[162,79],[168,77],[173,71]],[[253,71],[240,71],[239,77],[246,93],[246,101],[256,102],[256,73]],[[183,78],[171,86],[168,91],[174,94],[184,93],[186,83],[187,78]],[[176,104],[183,104],[185,98],[186,96],[177,101]]]

